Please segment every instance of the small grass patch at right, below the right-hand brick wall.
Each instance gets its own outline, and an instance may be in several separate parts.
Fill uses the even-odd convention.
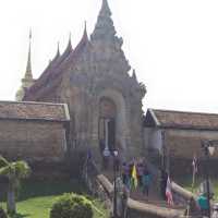
[[[197,193],[197,191],[199,189],[199,184],[203,181],[204,181],[203,178],[196,178],[196,181],[195,181],[195,184],[194,184],[194,189],[192,189],[192,177],[180,178],[180,179],[175,180],[175,182],[178,184],[180,184],[181,186],[183,186],[186,190],[193,191],[194,193]],[[210,178],[210,181],[213,183],[214,192],[215,192],[214,199],[216,202],[218,202],[218,178]]]

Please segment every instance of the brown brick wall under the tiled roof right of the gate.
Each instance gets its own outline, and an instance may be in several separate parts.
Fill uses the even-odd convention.
[[[165,130],[166,156],[168,156],[169,172],[173,177],[192,174],[193,156],[197,158],[197,174],[204,175],[205,156],[202,140],[217,140],[218,131],[206,130]],[[209,173],[218,175],[218,150],[209,156]]]

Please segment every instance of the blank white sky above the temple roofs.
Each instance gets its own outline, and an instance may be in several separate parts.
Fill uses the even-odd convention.
[[[218,113],[218,1],[108,0],[123,50],[147,87],[144,109]],[[14,100],[24,75],[32,28],[38,77],[84,21],[92,34],[101,0],[7,0],[0,7],[0,100]]]

